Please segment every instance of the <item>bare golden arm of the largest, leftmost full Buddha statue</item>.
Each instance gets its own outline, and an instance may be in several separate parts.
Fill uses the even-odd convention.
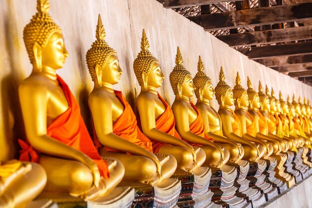
[[[50,156],[79,161],[90,168],[94,185],[100,182],[97,165],[84,153],[47,135],[47,104],[49,93],[42,80],[24,81],[18,88],[26,136],[31,146]]]

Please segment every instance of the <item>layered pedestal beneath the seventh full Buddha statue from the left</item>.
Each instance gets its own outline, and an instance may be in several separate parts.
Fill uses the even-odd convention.
[[[287,190],[287,184],[280,179],[275,178],[276,172],[274,169],[277,166],[277,160],[275,158],[269,158],[266,160],[267,169],[265,170],[264,174],[266,175],[266,182],[273,185],[273,187],[277,188],[278,194],[282,194]]]

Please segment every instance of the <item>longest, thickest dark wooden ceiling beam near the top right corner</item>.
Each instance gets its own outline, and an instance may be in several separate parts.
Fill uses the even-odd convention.
[[[312,18],[312,2],[188,17],[205,30],[232,29]]]

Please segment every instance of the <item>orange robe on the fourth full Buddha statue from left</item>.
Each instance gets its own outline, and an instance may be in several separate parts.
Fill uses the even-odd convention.
[[[193,121],[193,123],[189,126],[189,130],[193,133],[193,134],[196,134],[200,137],[203,137],[207,140],[210,140],[210,141],[213,141],[213,139],[209,138],[207,135],[205,135],[205,126],[204,126],[204,122],[202,120],[202,117],[197,109],[197,107],[192,103],[192,102],[189,102],[192,106],[192,108],[196,111],[197,113],[197,118]],[[191,146],[201,146],[201,145],[198,145],[198,144],[195,144],[195,143],[189,143],[187,142],[188,144],[190,144]]]

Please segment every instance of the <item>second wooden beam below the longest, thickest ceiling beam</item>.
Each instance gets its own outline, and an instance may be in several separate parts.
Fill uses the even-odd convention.
[[[244,54],[247,55],[250,59],[259,59],[271,56],[312,54],[312,41],[284,45],[252,47],[251,50],[244,52]]]

